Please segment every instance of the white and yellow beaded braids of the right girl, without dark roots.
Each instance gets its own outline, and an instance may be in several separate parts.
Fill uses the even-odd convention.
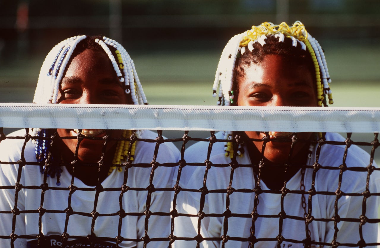
[[[306,28],[299,21],[294,22],[291,27],[285,22],[279,25],[274,25],[271,22],[263,22],[259,26],[252,26],[250,30],[244,33],[235,35],[228,41],[220,56],[215,73],[214,86],[212,87],[213,96],[216,97],[218,95],[219,97],[217,104],[225,106],[236,104],[232,90],[233,76],[231,75],[233,75],[234,72],[238,52],[240,51],[241,55],[247,52],[247,50],[251,52],[254,49],[253,44],[255,43],[264,46],[267,36],[271,35],[277,37],[279,39],[278,42],[283,42],[285,38],[290,38],[293,47],[299,44],[302,50],[307,50],[310,53],[315,67],[317,104],[318,106],[327,107],[327,98],[328,103],[333,104],[334,101],[332,100],[330,90],[331,79],[328,73],[325,54],[318,41],[307,33]],[[233,136],[233,132],[224,131],[224,139],[232,140]],[[318,136],[321,137],[321,134]],[[233,157],[232,142],[226,142],[224,150],[226,151],[226,156]],[[237,155],[242,156],[243,153],[244,149],[239,145]]]

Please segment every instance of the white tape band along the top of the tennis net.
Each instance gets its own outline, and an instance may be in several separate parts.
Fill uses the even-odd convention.
[[[380,108],[0,103],[0,127],[373,133]]]

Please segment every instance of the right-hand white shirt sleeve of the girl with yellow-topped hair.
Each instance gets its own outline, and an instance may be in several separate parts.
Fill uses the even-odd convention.
[[[339,167],[345,164],[347,169],[335,170],[336,176],[324,178],[325,183],[331,186],[329,192],[337,192],[338,186],[342,195],[334,198],[335,202],[327,216],[334,217],[326,222],[326,243],[335,239],[340,244],[358,244],[363,241],[366,244],[377,243],[378,235],[378,206],[380,196],[372,195],[380,190],[380,171],[369,170],[370,156],[361,148],[351,146],[348,148],[347,157],[344,158],[344,146],[331,145],[323,156],[321,165]],[[377,168],[375,162],[372,168]],[[339,179],[338,174],[341,174]],[[331,172],[332,174],[332,172]],[[340,182],[339,182],[340,181]],[[333,185],[333,186],[332,186]],[[337,210],[337,213],[336,213]],[[364,243],[363,243],[364,246]],[[366,247],[377,247],[367,245]]]

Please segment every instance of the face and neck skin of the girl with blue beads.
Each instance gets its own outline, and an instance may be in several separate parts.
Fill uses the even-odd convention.
[[[122,84],[117,78],[108,56],[103,52],[86,49],[75,56],[68,65],[62,78],[58,103],[70,104],[130,104]],[[121,137],[120,130],[84,129],[88,136],[111,138]],[[76,137],[74,129],[57,129],[60,137]],[[63,139],[60,143],[61,153],[67,161],[72,161],[77,139]],[[84,163],[97,163],[103,151],[104,140],[83,139],[79,145],[78,159]],[[105,164],[110,164],[116,150],[116,140],[110,140],[106,146]],[[70,171],[70,168],[69,168]],[[106,178],[107,168],[101,169],[100,181]],[[98,166],[76,167],[74,175],[88,185],[97,183]],[[92,175],[93,174],[93,175]]]

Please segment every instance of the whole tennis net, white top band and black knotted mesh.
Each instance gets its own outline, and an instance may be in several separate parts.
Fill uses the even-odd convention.
[[[0,112],[2,247],[380,245],[380,108],[2,103]],[[78,131],[62,137],[57,128]],[[276,141],[274,130],[289,134]],[[70,159],[53,149],[67,140]],[[86,140],[100,142],[98,161],[79,162]],[[128,142],[128,151],[106,164],[112,141]],[[291,143],[288,162],[264,158],[270,142]],[[297,144],[307,159],[293,164]],[[55,152],[36,159],[45,146]],[[107,166],[116,170],[91,186],[74,173],[95,167],[87,176],[100,177]]]

